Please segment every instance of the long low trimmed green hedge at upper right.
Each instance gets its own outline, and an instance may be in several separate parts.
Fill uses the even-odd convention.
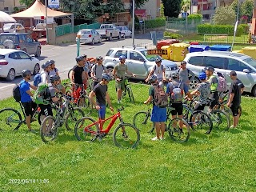
[[[234,26],[231,25],[210,25],[202,24],[198,25],[198,34],[234,34]],[[244,34],[242,26],[238,26],[237,35]]]

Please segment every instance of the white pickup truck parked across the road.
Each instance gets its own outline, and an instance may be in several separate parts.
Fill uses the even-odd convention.
[[[108,39],[109,41],[112,38],[121,38],[121,31],[114,24],[102,24],[99,30],[96,30],[102,38]]]

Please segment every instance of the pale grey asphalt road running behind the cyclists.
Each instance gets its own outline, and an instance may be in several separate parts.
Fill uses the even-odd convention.
[[[157,33],[157,38],[162,38],[162,32]],[[140,34],[135,36],[135,45],[144,46],[150,45],[152,42],[150,39],[150,34]],[[104,57],[106,52],[113,47],[122,47],[122,46],[131,46],[132,38],[125,39],[114,39],[111,42],[102,41],[102,43],[95,43],[94,46],[90,45],[81,45],[80,54],[86,54],[87,57],[95,58],[97,56]],[[67,73],[72,68],[76,62],[74,58],[77,54],[77,45],[69,44],[62,46],[51,46],[46,45],[42,46],[42,56],[39,58],[40,65],[46,62],[49,59],[54,59],[56,62],[56,67],[59,70],[59,74],[62,79],[67,78]],[[6,82],[3,79],[0,79],[0,100],[5,98],[10,98],[12,96],[12,89],[15,83],[18,83],[22,80],[22,77],[15,78],[14,82]],[[33,79],[32,79],[33,80]],[[33,83],[32,81],[30,83]]]

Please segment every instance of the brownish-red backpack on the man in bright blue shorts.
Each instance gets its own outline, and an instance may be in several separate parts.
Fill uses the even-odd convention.
[[[160,108],[168,105],[168,95],[162,86],[154,86],[154,105]]]

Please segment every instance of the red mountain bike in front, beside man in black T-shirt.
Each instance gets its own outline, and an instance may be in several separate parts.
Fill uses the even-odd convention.
[[[86,140],[94,142],[96,139],[102,140],[109,134],[114,122],[119,118],[119,125],[115,128],[113,133],[113,141],[115,146],[119,147],[131,147],[134,148],[138,146],[140,140],[140,133],[136,126],[131,125],[130,123],[123,122],[120,111],[124,108],[118,109],[118,113],[111,115],[105,120],[99,119],[95,121],[93,118],[84,117],[78,120],[74,128],[74,134],[78,141]],[[103,124],[107,120],[111,119],[110,123],[106,126],[106,129],[103,130]]]

